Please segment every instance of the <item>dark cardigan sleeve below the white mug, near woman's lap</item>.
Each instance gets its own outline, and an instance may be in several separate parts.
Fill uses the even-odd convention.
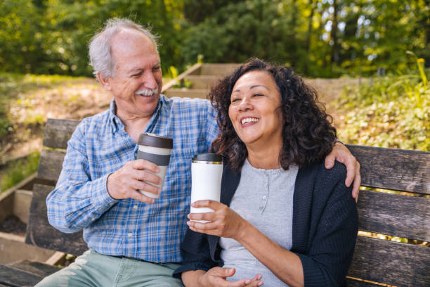
[[[181,279],[182,272],[190,270],[208,271],[212,267],[218,266],[216,262],[211,260],[207,235],[190,229],[187,230],[181,243],[181,255],[183,263],[173,273],[173,276],[178,279]]]

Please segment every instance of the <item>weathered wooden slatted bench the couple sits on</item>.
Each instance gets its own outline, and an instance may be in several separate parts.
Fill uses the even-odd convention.
[[[82,232],[63,234],[51,227],[45,200],[58,179],[67,140],[77,124],[76,120],[53,119],[46,123],[38,170],[44,184],[34,185],[26,238],[28,244],[74,255],[86,250]],[[369,146],[348,148],[360,162],[362,186],[408,192],[360,191],[360,231],[408,238],[410,242],[430,241],[430,153]],[[35,269],[0,266],[0,286],[31,286],[49,273],[37,274]],[[347,282],[348,286],[430,286],[430,248],[360,233]]]

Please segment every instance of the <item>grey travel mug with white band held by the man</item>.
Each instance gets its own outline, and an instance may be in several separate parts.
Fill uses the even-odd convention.
[[[148,181],[145,181],[145,183],[157,186],[161,189],[164,182],[164,176],[166,175],[167,165],[169,165],[170,161],[173,139],[158,136],[157,134],[145,133],[139,136],[138,145],[137,159],[148,160],[158,165],[159,172],[157,175],[162,179],[161,184],[158,185],[152,184]],[[150,198],[159,198],[159,195],[154,193],[141,190],[139,190],[139,192]]]

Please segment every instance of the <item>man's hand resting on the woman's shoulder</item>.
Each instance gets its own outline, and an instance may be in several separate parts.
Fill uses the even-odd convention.
[[[325,158],[325,168],[332,168],[334,166],[334,160],[342,162],[346,166],[345,185],[351,186],[351,183],[354,182],[352,196],[356,198],[357,201],[361,184],[360,163],[348,148],[339,142],[334,144],[332,152]]]

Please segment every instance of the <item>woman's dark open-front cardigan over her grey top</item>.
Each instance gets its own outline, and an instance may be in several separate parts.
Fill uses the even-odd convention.
[[[346,168],[339,162],[327,170],[323,163],[301,167],[293,196],[292,249],[301,260],[305,286],[346,286],[358,231],[352,187],[346,187]],[[224,167],[221,203],[230,205],[240,174]],[[351,185],[352,186],[352,185]],[[181,244],[183,265],[174,276],[189,270],[223,266],[219,236],[188,229]],[[264,280],[264,279],[263,279]]]

